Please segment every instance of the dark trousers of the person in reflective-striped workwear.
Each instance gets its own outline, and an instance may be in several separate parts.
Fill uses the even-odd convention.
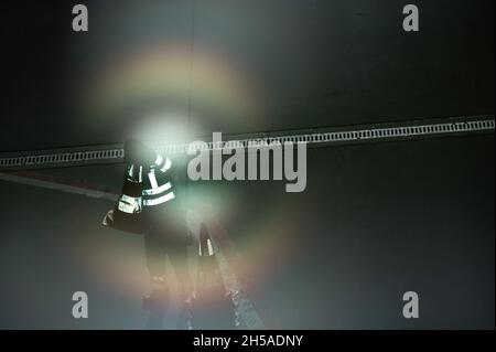
[[[181,207],[175,200],[171,202],[143,210],[147,266],[151,276],[164,276],[168,256],[177,282],[187,289],[192,285],[187,268],[191,237]]]

